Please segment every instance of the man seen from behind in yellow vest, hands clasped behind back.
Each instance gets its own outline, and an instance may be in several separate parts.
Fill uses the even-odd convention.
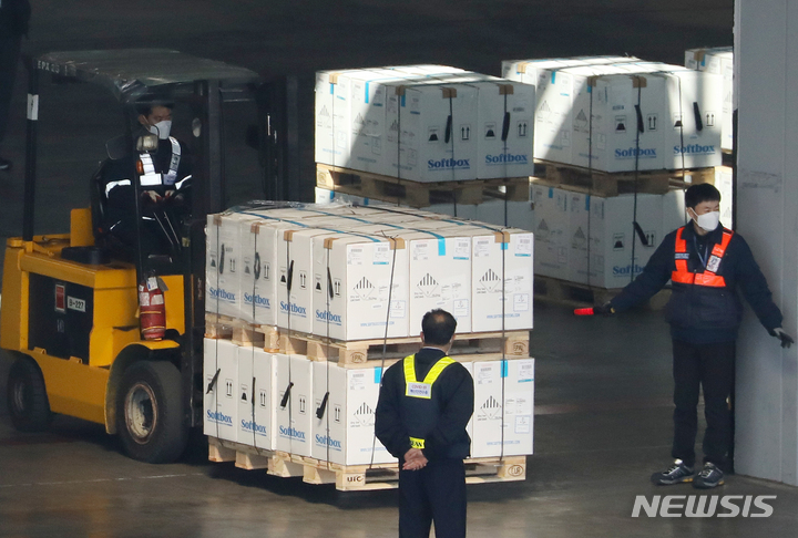
[[[466,536],[466,468],[473,380],[447,356],[457,321],[444,310],[421,321],[421,350],[389,368],[377,403],[377,438],[399,459],[399,536]]]

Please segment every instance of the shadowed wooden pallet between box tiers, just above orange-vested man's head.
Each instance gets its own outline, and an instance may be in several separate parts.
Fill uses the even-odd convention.
[[[638,193],[666,194],[671,188],[697,183],[714,183],[715,168],[678,170],[643,170],[606,173],[589,170],[579,166],[535,159],[535,178],[553,186],[612,197],[620,194]],[[636,183],[636,187],[635,187]]]

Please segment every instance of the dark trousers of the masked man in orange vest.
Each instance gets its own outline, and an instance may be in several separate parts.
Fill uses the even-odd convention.
[[[704,390],[704,463],[724,466],[732,444],[732,413],[727,399],[735,379],[735,342],[690,344],[673,341],[673,457],[695,465],[698,394]]]

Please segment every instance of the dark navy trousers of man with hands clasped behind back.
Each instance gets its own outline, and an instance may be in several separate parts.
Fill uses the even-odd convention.
[[[433,520],[436,538],[466,537],[462,459],[432,461],[422,469],[399,472],[399,537],[429,538]]]

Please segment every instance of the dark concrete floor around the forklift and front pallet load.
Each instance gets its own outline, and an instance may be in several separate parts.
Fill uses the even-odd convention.
[[[635,496],[695,493],[648,483],[669,457],[667,328],[655,312],[585,320],[535,308],[535,454],[523,483],[469,486],[469,536],[795,535],[798,489],[744,476],[712,494],[776,495],[770,518],[632,518]],[[181,463],[133,462],[102,427],[66,417],[50,433],[19,434],[3,406],[0,536],[397,535],[395,492],[340,494],[205,458],[198,436]]]

